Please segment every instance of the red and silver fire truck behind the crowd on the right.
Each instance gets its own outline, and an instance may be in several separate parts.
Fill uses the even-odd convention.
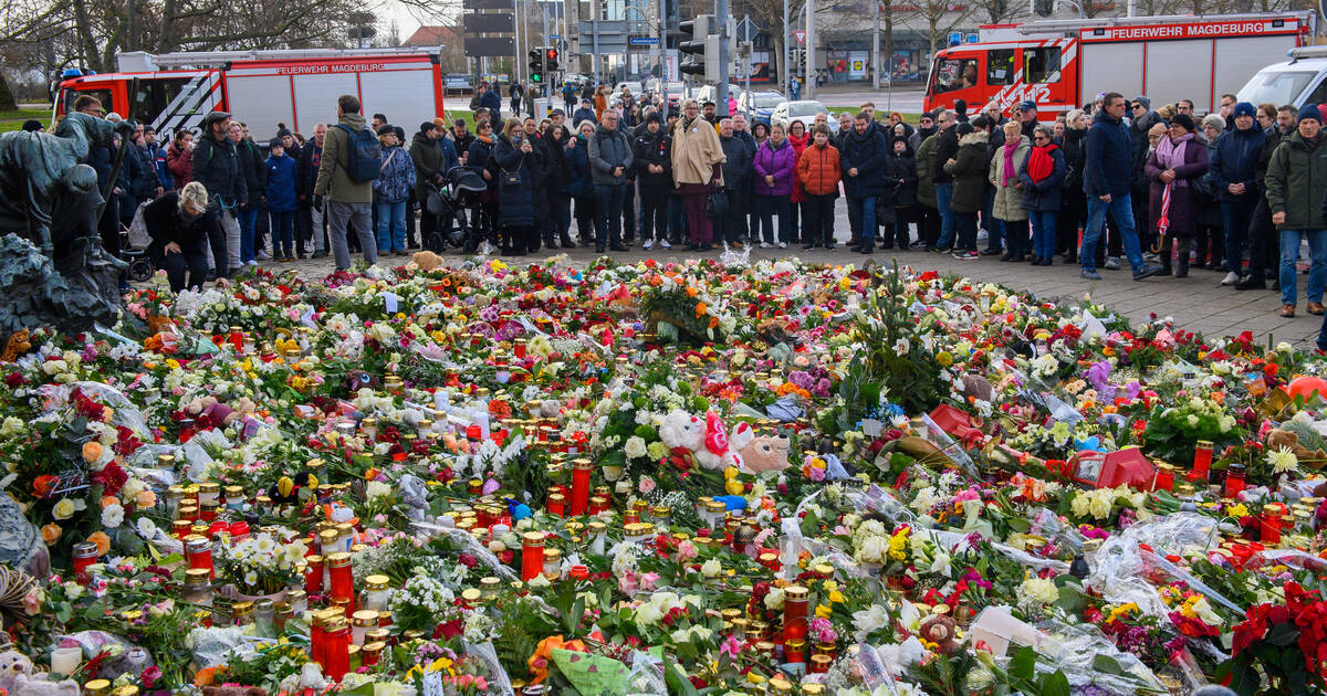
[[[1214,111],[1222,94],[1304,42],[1312,21],[1312,12],[1281,12],[986,25],[979,42],[936,53],[924,105],[953,109],[963,99],[975,114],[994,101],[1007,114],[1031,99],[1054,118],[1119,91]]]

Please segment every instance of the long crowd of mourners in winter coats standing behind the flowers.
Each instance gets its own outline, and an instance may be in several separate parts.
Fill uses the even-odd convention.
[[[511,90],[514,113],[527,95]],[[498,93],[482,85],[474,133],[464,118],[438,118],[409,145],[384,114],[368,126],[350,95],[338,101],[337,123],[316,126],[309,139],[283,126],[267,147],[223,113],[165,147],[139,127],[107,216],[125,223],[139,205],[157,213],[174,205],[178,232],[202,231],[153,235],[149,252],[178,286],[230,276],[268,253],[280,261],[330,253],[344,269],[353,252],[370,262],[403,255],[449,225],[425,211],[417,229],[415,211],[466,167],[487,184],[484,220],[507,256],[576,245],[624,252],[637,241],[697,252],[835,249],[843,198],[847,245],[859,253],[1060,260],[1088,280],[1121,262],[1135,280],[1204,268],[1237,290],[1270,280],[1283,317],[1296,312],[1295,264],[1307,241],[1307,312],[1323,313],[1327,148],[1319,154],[1318,145],[1327,105],[1251,105],[1227,94],[1218,113],[1200,117],[1189,101],[1153,109],[1147,97],[1105,93],[1046,121],[1023,102],[1007,118],[997,103],[975,114],[959,105],[913,125],[898,113],[877,119],[868,102],[839,114],[833,134],[827,114],[766,125],[719,117],[714,103],[694,99],[664,110],[605,85],[567,86],[561,95],[568,107],[581,95],[569,118],[555,109],[541,121],[503,121]],[[101,115],[92,97],[76,109]],[[374,135],[377,170],[357,176],[356,152]],[[94,154],[94,166],[107,156]],[[98,172],[109,175],[105,164]],[[186,215],[187,205],[200,212]],[[118,235],[106,227],[104,235],[118,251]],[[190,253],[173,259],[184,239]]]

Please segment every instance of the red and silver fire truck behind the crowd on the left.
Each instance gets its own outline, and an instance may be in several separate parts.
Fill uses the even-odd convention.
[[[445,91],[438,48],[223,50],[210,53],[123,53],[119,72],[70,77],[60,84],[56,114],[80,94],[101,99],[106,111],[149,123],[169,137],[196,130],[212,110],[230,111],[259,141],[277,123],[311,134],[336,122],[336,99],[360,97],[364,114],[382,113],[407,131],[442,115]],[[137,78],[137,94],[130,94]],[[130,106],[133,99],[133,106]]]

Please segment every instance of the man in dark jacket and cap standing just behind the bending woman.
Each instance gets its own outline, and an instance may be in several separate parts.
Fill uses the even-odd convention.
[[[224,239],[212,240],[212,264],[219,278],[228,278],[240,269],[240,223],[235,209],[248,202],[248,187],[230,131],[231,114],[207,114],[192,155],[194,180],[207,188],[208,207],[220,211]]]

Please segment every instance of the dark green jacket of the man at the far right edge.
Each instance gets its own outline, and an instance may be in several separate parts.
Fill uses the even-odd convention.
[[[1318,135],[1316,147],[1299,131],[1282,141],[1267,163],[1263,184],[1271,213],[1286,213],[1281,229],[1327,229],[1322,207],[1327,196],[1327,135]]]

